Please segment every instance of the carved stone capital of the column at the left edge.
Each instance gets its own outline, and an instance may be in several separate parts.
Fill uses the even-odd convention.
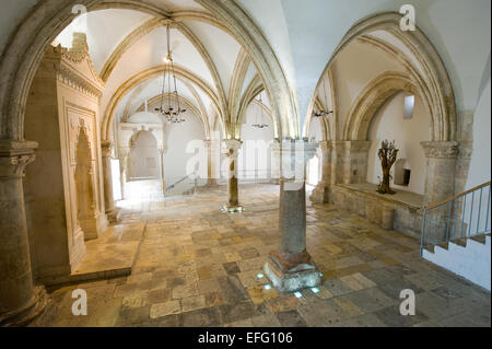
[[[0,140],[0,179],[22,178],[37,147],[36,142]]]

